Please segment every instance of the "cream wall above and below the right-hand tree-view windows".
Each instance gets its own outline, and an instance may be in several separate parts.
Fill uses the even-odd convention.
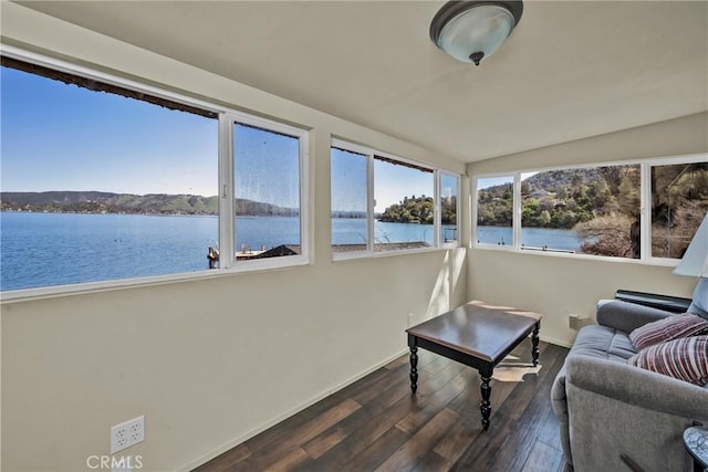
[[[476,175],[511,172],[623,159],[681,156],[708,151],[708,114],[686,116],[535,149],[468,166]],[[696,280],[671,274],[671,268],[632,261],[606,261],[472,249],[468,252],[468,294],[544,314],[541,337],[570,345],[575,332],[568,315],[593,316],[601,298],[617,289],[690,296]]]

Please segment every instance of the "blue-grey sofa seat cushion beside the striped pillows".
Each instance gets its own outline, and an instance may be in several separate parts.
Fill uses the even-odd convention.
[[[583,355],[624,364],[636,353],[623,332],[607,326],[590,325],[577,332],[569,356]]]

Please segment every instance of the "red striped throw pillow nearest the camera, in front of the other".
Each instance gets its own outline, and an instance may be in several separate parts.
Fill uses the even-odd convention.
[[[691,336],[642,349],[627,361],[657,374],[704,386],[708,382],[708,336]]]

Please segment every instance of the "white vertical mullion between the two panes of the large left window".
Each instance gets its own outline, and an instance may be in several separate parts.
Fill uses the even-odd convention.
[[[233,116],[219,115],[219,266],[233,266]]]

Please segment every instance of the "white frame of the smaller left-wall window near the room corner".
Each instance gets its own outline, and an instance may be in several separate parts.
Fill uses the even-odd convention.
[[[362,155],[366,158],[366,232],[367,232],[367,241],[366,249],[361,251],[343,251],[336,252],[334,251],[333,244],[330,241],[330,251],[332,253],[333,261],[343,261],[351,259],[362,259],[362,258],[386,258],[392,255],[399,254],[410,254],[410,253],[420,253],[428,251],[439,251],[445,249],[455,249],[460,248],[461,242],[459,238],[459,227],[460,227],[460,190],[461,190],[461,175],[456,174],[450,170],[445,170],[437,168],[435,166],[430,166],[427,164],[421,164],[412,159],[407,159],[404,157],[395,156],[389,153],[384,153],[368,146],[355,144],[348,140],[344,140],[337,137],[332,136],[330,143],[330,164],[332,162],[332,148],[339,148],[345,151],[355,153]],[[433,172],[433,198],[434,198],[434,223],[433,223],[433,245],[428,248],[415,248],[415,249],[398,249],[391,251],[376,251],[375,250],[375,241],[374,241],[374,207],[375,207],[375,192],[374,192],[374,183],[375,183],[375,171],[374,171],[374,161],[376,157],[383,158],[385,160],[394,160],[396,162],[400,162],[403,165],[408,165],[414,168],[426,169]],[[456,242],[444,243],[440,241],[440,229],[441,229],[441,206],[440,206],[440,179],[441,176],[455,177],[457,179],[457,196],[456,199],[456,216],[457,216],[457,227],[458,227],[458,238]],[[331,172],[330,172],[331,176]],[[332,193],[333,189],[330,183],[330,192]],[[330,208],[330,234],[332,234],[332,208]]]

